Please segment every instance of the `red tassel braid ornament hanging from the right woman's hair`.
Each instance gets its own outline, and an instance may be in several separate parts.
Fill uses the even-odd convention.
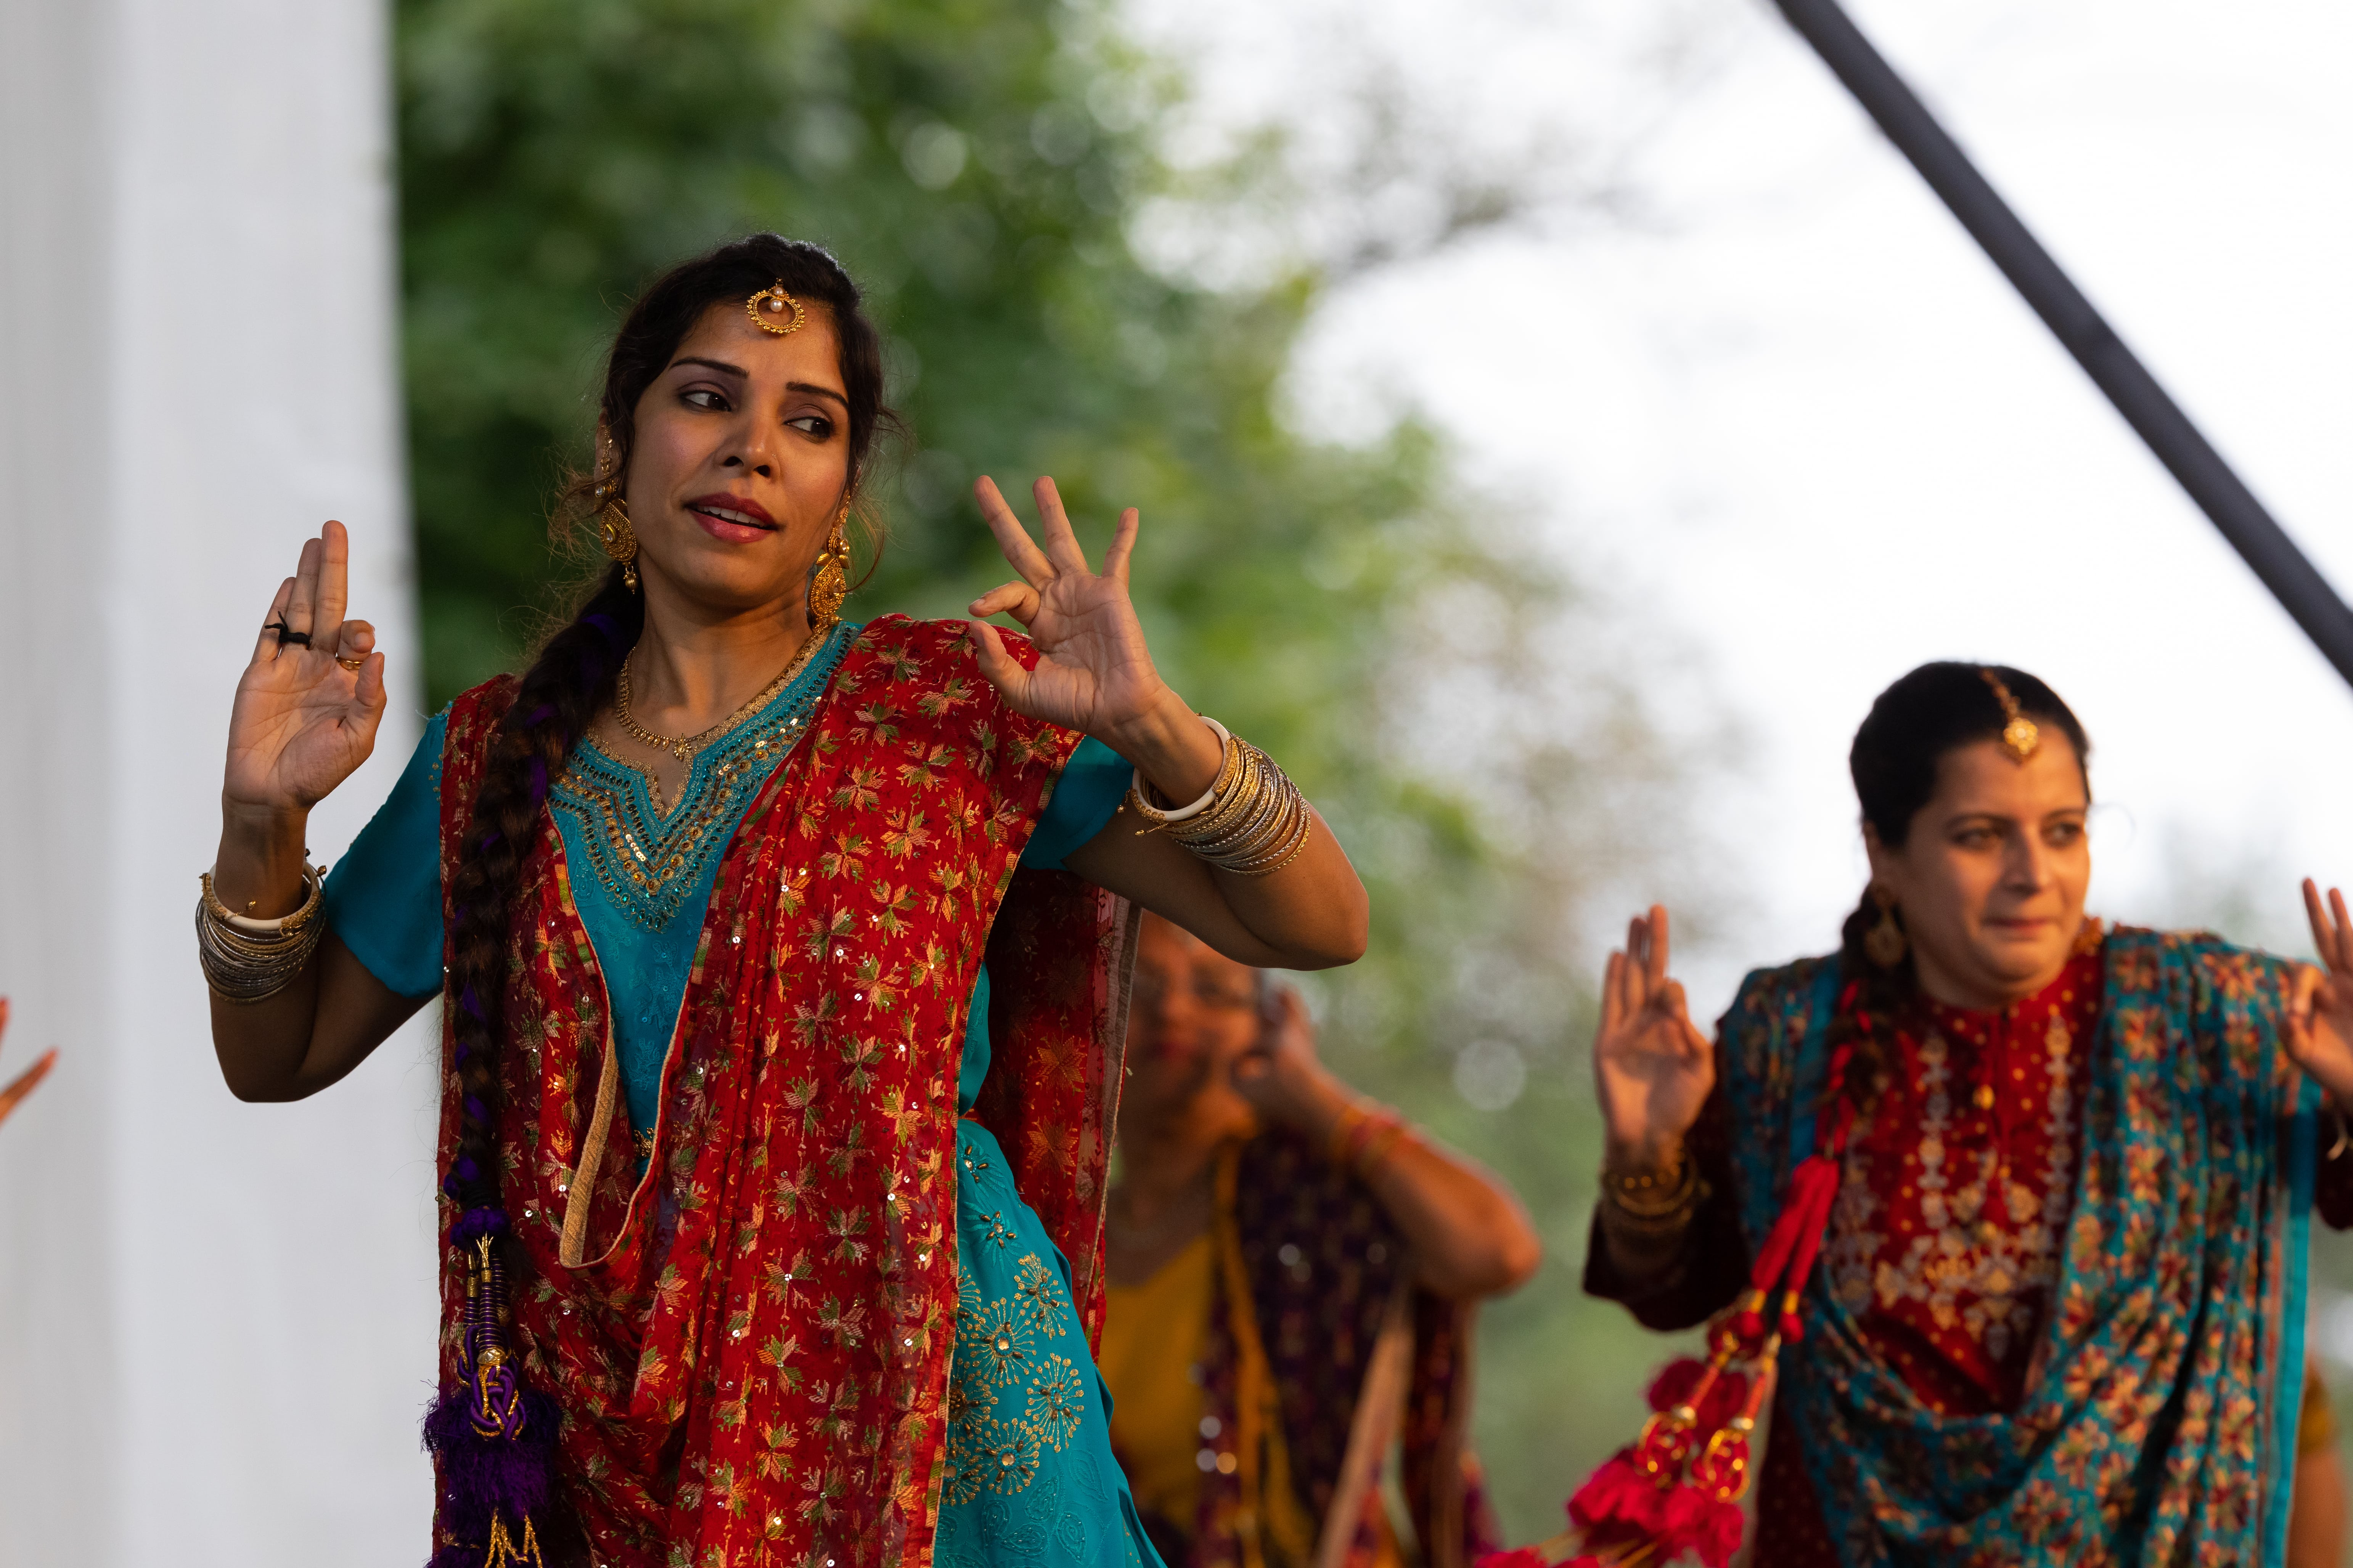
[[[1854,1011],[1857,1034],[1871,1020],[1847,985],[1840,1011]],[[1492,1552],[1478,1568],[1668,1568],[1699,1559],[1725,1568],[1741,1549],[1741,1497],[1753,1479],[1751,1436],[1772,1396],[1781,1342],[1805,1338],[1798,1305],[1831,1225],[1854,1103],[1847,1065],[1854,1046],[1831,1051],[1824,1117],[1814,1154],[1788,1173],[1788,1197],[1748,1269],[1748,1291],[1708,1326],[1706,1361],[1673,1361],[1649,1385],[1652,1418],[1642,1436],[1619,1448],[1569,1497],[1569,1528],[1534,1547]],[[1767,1305],[1779,1291],[1779,1312]]]

